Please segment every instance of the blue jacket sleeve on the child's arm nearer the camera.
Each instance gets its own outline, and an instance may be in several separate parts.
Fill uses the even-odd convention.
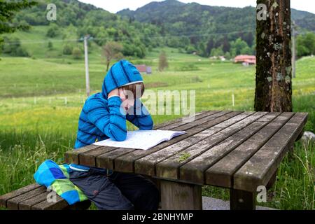
[[[114,141],[124,141],[127,137],[126,116],[120,113],[121,99],[118,96],[108,99],[109,110],[103,102],[93,102],[88,106],[87,119],[101,132]]]

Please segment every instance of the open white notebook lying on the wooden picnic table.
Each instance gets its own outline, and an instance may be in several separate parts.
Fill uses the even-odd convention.
[[[170,139],[185,133],[186,132],[167,130],[137,130],[127,132],[127,138],[125,141],[113,141],[111,139],[106,139],[104,141],[97,141],[94,145],[147,150],[160,144],[162,141],[169,141]]]

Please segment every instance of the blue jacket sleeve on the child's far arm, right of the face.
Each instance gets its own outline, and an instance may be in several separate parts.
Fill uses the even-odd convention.
[[[138,106],[138,107],[137,107]],[[153,120],[150,113],[146,109],[146,106],[142,104],[140,99],[136,99],[133,106],[133,114],[127,113],[126,118],[132,124],[139,127],[139,130],[152,130]]]

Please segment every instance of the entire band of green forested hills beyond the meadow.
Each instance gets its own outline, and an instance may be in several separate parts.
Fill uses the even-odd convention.
[[[255,8],[249,6],[203,6],[166,0],[153,1],[135,11],[125,9],[114,14],[78,0],[54,0],[57,20],[48,21],[48,3],[51,1],[38,0],[37,6],[15,15],[13,24],[31,25],[34,28],[25,30],[29,35],[20,34],[23,36],[21,42],[32,41],[26,36],[52,38],[52,43],[53,38],[57,41],[62,39],[62,50],[55,48],[56,53],[71,55],[71,51],[78,46],[71,42],[73,38],[78,40],[90,34],[99,47],[109,41],[118,42],[125,56],[145,57],[146,52],[160,46],[178,48],[180,52],[196,52],[202,57],[225,55],[229,58],[239,54],[255,54]],[[300,33],[315,31],[314,14],[292,9],[292,18]],[[315,51],[313,47],[304,47],[314,36],[305,38],[306,41],[297,40],[297,48],[301,46],[302,49],[297,50],[299,56]],[[6,34],[4,40],[5,43],[20,44],[10,34]],[[27,49],[17,47],[14,50],[12,46],[2,45],[0,51],[13,56],[31,55],[26,52]],[[54,46],[49,44],[49,48]]]

